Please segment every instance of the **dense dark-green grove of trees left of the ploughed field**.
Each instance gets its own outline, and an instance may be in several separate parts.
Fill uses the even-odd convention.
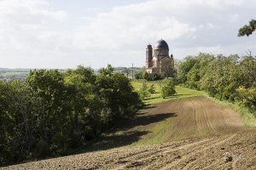
[[[0,165],[65,155],[137,111],[131,82],[108,65],[30,71],[25,82],[0,82]]]

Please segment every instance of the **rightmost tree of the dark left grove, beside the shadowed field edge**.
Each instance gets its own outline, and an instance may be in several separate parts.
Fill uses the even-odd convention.
[[[110,127],[125,116],[129,116],[141,104],[139,96],[124,74],[113,72],[108,65],[96,77],[96,94],[102,100],[102,118],[104,127]]]

